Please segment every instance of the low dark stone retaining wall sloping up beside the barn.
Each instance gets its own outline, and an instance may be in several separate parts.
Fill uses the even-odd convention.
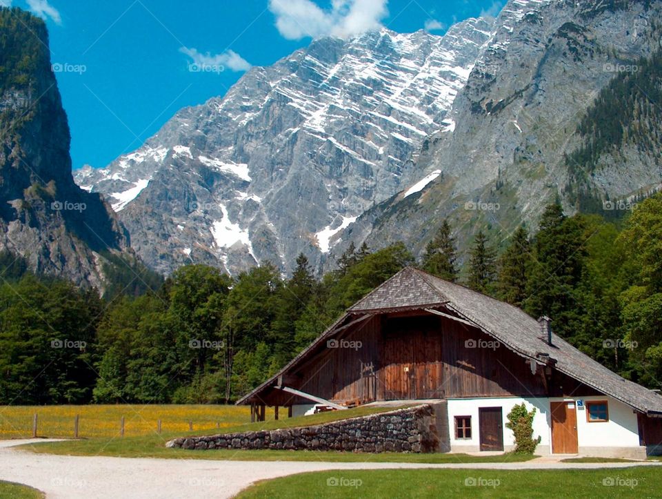
[[[434,409],[425,404],[311,427],[175,438],[166,447],[195,450],[434,452],[439,447],[439,437]]]

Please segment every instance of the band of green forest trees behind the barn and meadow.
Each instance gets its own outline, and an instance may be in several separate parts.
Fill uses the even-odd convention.
[[[408,265],[548,315],[592,358],[662,386],[661,195],[619,225],[554,204],[503,251],[493,235],[460,258],[446,221],[418,261],[403,243],[350,245],[321,278],[304,255],[287,279],[272,264],[235,277],[189,265],[138,297],[101,298],[2,252],[0,404],[232,402]]]

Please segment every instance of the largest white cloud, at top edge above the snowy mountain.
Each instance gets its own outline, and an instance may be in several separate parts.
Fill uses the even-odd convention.
[[[332,0],[322,9],[311,0],[269,0],[269,10],[276,17],[276,27],[283,37],[334,36],[347,38],[381,28],[388,15],[388,0]]]

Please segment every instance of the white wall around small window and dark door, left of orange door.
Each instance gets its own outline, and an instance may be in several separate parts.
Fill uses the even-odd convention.
[[[473,452],[480,449],[479,431],[479,408],[501,407],[503,414],[503,447],[506,451],[514,446],[512,431],[505,427],[508,422],[506,416],[515,405],[524,402],[530,411],[536,407],[536,415],[533,420],[533,436],[541,437],[541,443],[536,453],[550,452],[550,426],[549,411],[550,402],[547,398],[463,398],[448,400],[448,429],[450,430],[450,445],[453,452]],[[471,416],[471,439],[457,440],[455,438],[455,416]]]

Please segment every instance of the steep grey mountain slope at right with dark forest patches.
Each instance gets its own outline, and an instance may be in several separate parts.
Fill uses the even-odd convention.
[[[662,182],[660,1],[511,0],[467,84],[425,140],[424,178],[338,237],[420,253],[445,217],[466,248],[534,228],[545,204],[616,215]],[[341,242],[334,251],[343,251]],[[330,259],[331,260],[331,259]]]

